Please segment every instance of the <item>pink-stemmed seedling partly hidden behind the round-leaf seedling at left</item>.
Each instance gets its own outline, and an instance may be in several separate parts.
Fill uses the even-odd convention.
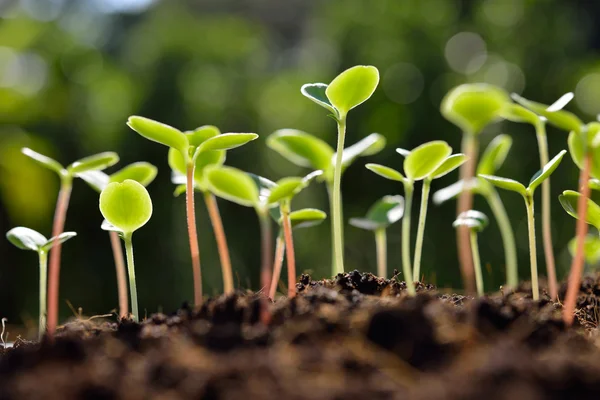
[[[144,186],[148,186],[156,178],[157,168],[147,162],[136,162],[120,169],[113,174],[106,174],[103,171],[86,171],[77,176],[83,179],[92,189],[98,193],[102,192],[109,183],[123,182],[131,179]],[[127,273],[125,269],[125,260],[123,258],[123,248],[119,241],[119,234],[115,231],[109,231],[110,245],[112,247],[113,258],[115,260],[115,269],[117,272],[117,292],[119,293],[119,317],[127,318],[129,315],[128,296],[127,296]]]

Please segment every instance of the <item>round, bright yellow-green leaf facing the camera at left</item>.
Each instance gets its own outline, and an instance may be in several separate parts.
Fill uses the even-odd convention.
[[[112,182],[100,193],[100,212],[122,232],[132,233],[152,216],[152,200],[148,190],[134,180]]]

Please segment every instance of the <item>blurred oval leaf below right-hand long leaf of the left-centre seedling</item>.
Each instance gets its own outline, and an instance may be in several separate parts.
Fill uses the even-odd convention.
[[[205,174],[208,188],[213,194],[245,207],[259,206],[258,187],[244,171],[211,166]]]

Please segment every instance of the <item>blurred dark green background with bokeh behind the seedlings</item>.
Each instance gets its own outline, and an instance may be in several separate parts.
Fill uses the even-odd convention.
[[[57,177],[21,155],[29,146],[64,164],[106,150],[119,166],[157,165],[149,187],[154,215],[136,233],[140,308],[172,311],[192,298],[184,199],[174,198],[167,149],[125,125],[132,114],[180,129],[214,124],[223,132],[261,137],[231,151],[227,164],[273,180],[307,172],[265,146],[276,129],[297,128],[332,146],[336,128],[324,110],[300,95],[307,82],[329,82],[355,64],[379,68],[374,96],[353,111],[347,144],[371,132],[386,149],[359,159],[343,180],[344,215],[362,216],[376,199],[402,194],[400,185],[364,168],[378,162],[400,168],[394,149],[432,139],[460,148],[460,132],[439,113],[444,94],[464,82],[490,82],[550,103],[567,91],[567,108],[585,120],[600,111],[598,48],[600,3],[560,0],[21,0],[0,2],[0,231],[24,225],[49,236]],[[566,134],[548,129],[550,154],[566,148]],[[514,138],[500,171],[526,181],[538,169],[533,129],[502,123],[482,135]],[[113,167],[113,170],[117,167]],[[433,191],[456,180],[434,182]],[[552,179],[553,198],[575,188],[577,169],[565,159]],[[417,193],[420,186],[417,187]],[[529,273],[525,207],[501,193],[517,235],[521,277]],[[418,205],[418,198],[415,203]],[[476,207],[488,212],[482,199]],[[413,218],[417,216],[417,205]],[[219,200],[238,287],[258,287],[259,234],[252,209]],[[323,185],[295,208],[328,210]],[[553,203],[559,277],[570,257],[574,221]],[[197,201],[207,294],[222,290],[221,272],[204,204]],[[455,204],[431,206],[423,254],[429,282],[460,290],[454,229]],[[539,211],[539,209],[538,209]],[[88,315],[117,305],[115,269],[98,195],[77,180],[66,229],[79,236],[63,247],[61,316],[70,301]],[[413,226],[416,230],[416,226]],[[539,228],[539,224],[538,224]],[[329,222],[295,236],[300,272],[315,278],[330,268]],[[538,235],[541,239],[541,235]],[[346,269],[375,271],[371,233],[346,225]],[[414,240],[414,232],[413,232]],[[540,271],[545,271],[538,240]],[[481,235],[487,288],[504,279],[500,235],[494,223]],[[400,225],[389,231],[389,269],[400,269]],[[37,315],[36,255],[0,240],[0,316],[11,322]]]

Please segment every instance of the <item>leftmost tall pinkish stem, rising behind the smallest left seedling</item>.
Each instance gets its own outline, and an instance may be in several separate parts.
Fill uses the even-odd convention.
[[[52,237],[58,237],[65,229],[67,209],[73,188],[73,178],[69,175],[61,176],[60,191],[54,212],[52,224]],[[50,267],[48,277],[48,336],[51,338],[58,324],[58,287],[60,282],[60,241],[56,241],[50,249]]]

